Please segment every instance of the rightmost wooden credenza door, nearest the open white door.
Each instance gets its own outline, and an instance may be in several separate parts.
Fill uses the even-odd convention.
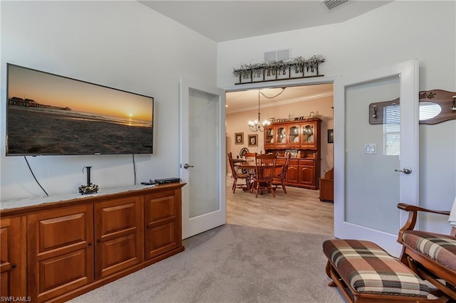
[[[146,259],[182,247],[180,195],[171,190],[145,196]]]

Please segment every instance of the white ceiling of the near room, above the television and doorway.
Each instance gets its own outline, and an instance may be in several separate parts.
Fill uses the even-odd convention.
[[[331,11],[321,0],[139,2],[207,38],[222,42],[339,23],[377,9],[391,0],[351,0]]]

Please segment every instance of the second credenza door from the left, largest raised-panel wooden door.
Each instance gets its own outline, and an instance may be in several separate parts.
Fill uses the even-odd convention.
[[[44,302],[93,281],[93,205],[27,216],[28,295]]]

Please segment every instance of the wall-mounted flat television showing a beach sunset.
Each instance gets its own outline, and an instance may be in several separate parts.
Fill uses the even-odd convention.
[[[153,97],[7,65],[6,155],[152,154]]]

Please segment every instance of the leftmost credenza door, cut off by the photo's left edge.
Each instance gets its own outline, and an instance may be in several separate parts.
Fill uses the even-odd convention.
[[[26,217],[0,219],[1,297],[26,297]]]

